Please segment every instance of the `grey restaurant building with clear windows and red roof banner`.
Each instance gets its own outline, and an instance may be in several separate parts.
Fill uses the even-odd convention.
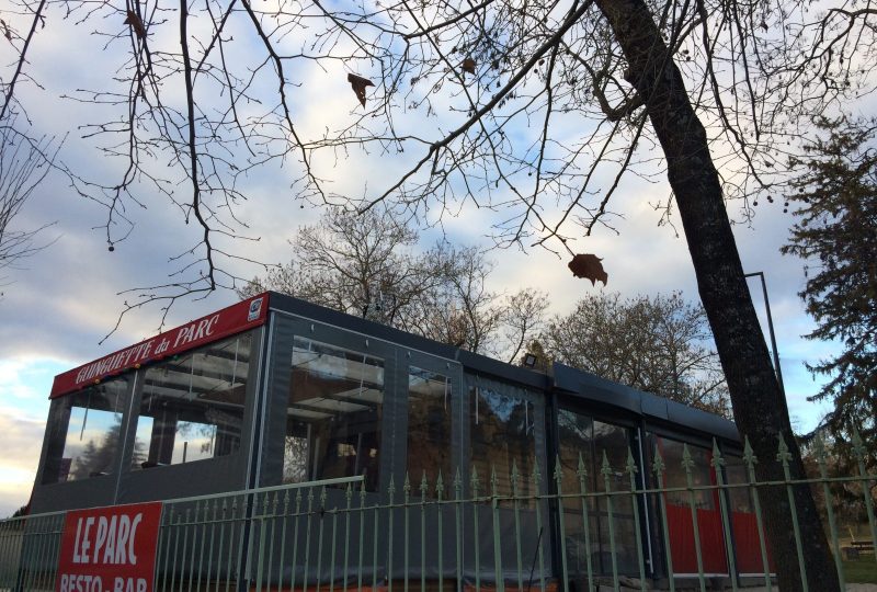
[[[763,571],[748,490],[685,490],[745,482],[732,422],[561,364],[535,372],[281,294],[60,374],[50,398],[33,513],[349,476],[362,476],[377,504],[407,478],[412,498],[434,498],[441,475],[445,499],[515,494],[514,511],[467,508],[460,520],[531,533],[519,556],[542,545],[555,577],[561,547],[573,574],[585,563],[607,573],[613,561],[637,573],[638,547],[653,578],[668,553],[676,574],[694,573],[695,540],[707,573]],[[658,486],[656,451],[670,491],[617,494],[631,490],[630,462],[636,489]],[[616,493],[558,497],[558,482],[560,493]],[[327,496],[344,503],[343,489]]]

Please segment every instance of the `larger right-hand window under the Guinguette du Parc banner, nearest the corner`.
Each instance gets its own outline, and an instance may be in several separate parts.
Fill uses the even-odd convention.
[[[252,333],[149,367],[133,468],[227,456],[240,448]]]

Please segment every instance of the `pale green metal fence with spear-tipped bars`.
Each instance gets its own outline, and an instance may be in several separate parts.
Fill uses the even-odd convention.
[[[628,451],[624,466],[603,453],[599,475],[579,455],[574,466],[557,458],[548,479],[512,464],[499,471],[508,482],[474,469],[466,479],[390,479],[381,492],[343,478],[166,500],[155,590],[771,590],[760,492],[785,488],[791,502],[801,486],[823,510],[841,582],[851,565],[877,581],[877,476],[861,442],[855,474],[832,475],[834,458],[817,445],[813,477],[793,480],[781,441],[786,479],[771,482],[756,480],[748,443],[730,463],[715,444],[699,456],[692,448],[681,445],[672,463],[656,449],[648,478]],[[794,503],[791,517],[804,576]],[[64,523],[64,512],[0,522],[0,591],[55,589]]]

